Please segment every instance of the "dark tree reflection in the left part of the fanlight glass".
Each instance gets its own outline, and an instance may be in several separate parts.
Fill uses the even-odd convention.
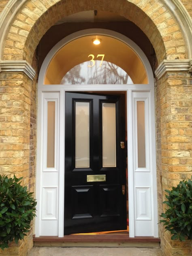
[[[83,63],[71,68],[66,75],[64,75],[61,84],[85,84],[85,78],[81,76],[81,66]]]

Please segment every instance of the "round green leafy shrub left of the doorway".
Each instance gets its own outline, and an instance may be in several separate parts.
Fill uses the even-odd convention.
[[[27,187],[21,186],[22,179],[0,175],[0,248],[9,247],[8,243],[23,239],[30,230],[35,216],[36,201]]]

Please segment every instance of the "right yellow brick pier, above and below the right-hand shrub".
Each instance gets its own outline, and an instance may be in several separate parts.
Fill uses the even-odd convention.
[[[156,136],[158,212],[165,189],[192,176],[192,79],[190,73],[166,73],[156,88]],[[192,255],[191,241],[171,241],[170,233],[159,225],[161,245],[166,256]]]

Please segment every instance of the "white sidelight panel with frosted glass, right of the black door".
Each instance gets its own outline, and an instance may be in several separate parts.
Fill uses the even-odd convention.
[[[156,151],[153,130],[154,105],[149,91],[132,91],[132,172],[134,201],[134,236],[158,237]],[[129,122],[129,121],[128,121]],[[130,124],[129,124],[130,125]],[[129,141],[129,140],[128,140]],[[131,161],[131,159],[129,159]],[[131,177],[131,175],[130,175]],[[130,200],[130,199],[129,199]],[[133,216],[132,216],[133,218]],[[130,220],[131,222],[131,220]]]

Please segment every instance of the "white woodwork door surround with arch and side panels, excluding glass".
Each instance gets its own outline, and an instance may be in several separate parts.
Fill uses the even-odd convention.
[[[102,33],[127,43],[141,58],[149,84],[131,85],[43,85],[47,66],[58,49],[67,41],[85,34]],[[128,127],[128,195],[129,236],[158,237],[154,78],[150,64],[141,49],[125,36],[110,30],[84,30],[64,38],[49,52],[40,70],[38,82],[38,135],[35,235],[64,234],[64,99],[65,92],[126,92]],[[55,168],[47,168],[47,102],[55,102]],[[137,101],[145,102],[146,167],[138,168]],[[46,199],[47,198],[47,199]],[[49,198],[49,199],[48,199]],[[46,202],[47,200],[47,202]],[[48,201],[51,202],[48,202]],[[47,208],[46,208],[47,207]],[[44,209],[46,208],[46,209]],[[45,219],[46,218],[46,219]],[[54,219],[53,219],[54,218]]]

